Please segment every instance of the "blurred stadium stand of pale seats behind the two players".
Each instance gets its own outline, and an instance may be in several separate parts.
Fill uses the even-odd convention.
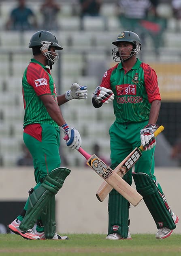
[[[37,17],[41,1],[28,1]],[[53,68],[57,91],[64,93],[72,82],[78,82],[88,87],[87,101],[70,101],[62,106],[62,112],[68,124],[75,126],[82,135],[82,145],[87,152],[91,152],[94,141],[101,143],[102,154],[109,158],[109,126],[114,120],[112,106],[95,110],[91,97],[94,88],[99,84],[104,70],[115,65],[111,56],[111,42],[120,31],[124,30],[114,15],[115,1],[104,1],[101,15],[104,19],[86,17],[85,31],[80,30],[79,15],[72,15],[73,1],[61,1],[62,9],[59,16],[60,30],[55,31],[60,44],[64,48],[60,52],[60,62]],[[75,3],[75,1],[74,1]],[[23,132],[23,101],[21,95],[21,77],[32,56],[28,49],[30,37],[34,31],[24,33],[5,31],[3,24],[13,7],[14,1],[2,1],[0,4],[0,155],[4,166],[13,166],[20,152]],[[162,8],[161,8],[162,7]],[[160,13],[169,17],[168,27],[164,32],[164,44],[160,48],[160,59],[153,53],[153,43],[150,39],[145,42],[143,61],[147,62],[179,62],[178,54],[181,36],[172,30],[174,20],[169,4],[162,3]],[[79,11],[79,10],[78,10]],[[163,15],[163,14],[162,14]],[[75,111],[76,108],[76,111]],[[70,110],[70,111],[69,111]],[[84,119],[81,117],[84,115]],[[104,120],[104,124],[102,124]],[[106,121],[105,121],[106,120]],[[62,135],[63,136],[63,135]],[[73,152],[61,141],[64,155],[68,155],[70,166],[83,165],[84,158],[78,152]],[[3,152],[2,152],[3,148]]]

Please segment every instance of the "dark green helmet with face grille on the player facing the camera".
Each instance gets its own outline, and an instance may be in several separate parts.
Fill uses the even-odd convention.
[[[128,57],[128,59],[136,54],[138,54],[141,51],[141,40],[138,37],[138,35],[132,31],[124,31],[121,32],[116,41],[113,41],[112,44],[114,44],[115,46],[118,47],[119,42],[129,42],[132,43],[134,45],[132,51],[130,52],[130,56]],[[114,61],[120,61],[121,56],[118,52],[118,48],[114,48],[112,50],[112,55],[113,55],[113,60]],[[126,61],[127,59],[124,59],[124,61]],[[123,61],[123,59],[121,59],[121,61]]]

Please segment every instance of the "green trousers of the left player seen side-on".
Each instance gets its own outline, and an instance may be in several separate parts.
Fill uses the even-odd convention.
[[[35,139],[35,137],[23,133],[23,140],[28,150],[32,154],[34,163],[34,178],[36,181],[37,189],[47,174],[53,169],[60,167],[60,129],[55,128],[51,124],[41,124],[41,140]],[[28,200],[24,206],[24,210],[28,208]],[[22,216],[19,215],[18,219],[22,221]]]

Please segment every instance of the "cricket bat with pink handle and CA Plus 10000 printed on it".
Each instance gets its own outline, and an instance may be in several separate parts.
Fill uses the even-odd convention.
[[[67,136],[64,137],[67,139]],[[125,197],[132,205],[136,206],[142,199],[140,195],[133,187],[131,187],[125,180],[123,180],[115,171],[113,171],[108,165],[106,165],[95,154],[89,155],[83,148],[79,148],[78,151],[87,160],[87,165],[91,167],[96,174],[98,174],[106,184],[109,184],[111,188],[114,188],[118,193]]]

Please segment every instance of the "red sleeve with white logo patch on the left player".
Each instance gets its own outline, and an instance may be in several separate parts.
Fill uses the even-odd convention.
[[[37,63],[30,63],[27,68],[26,78],[38,96],[51,94],[49,87],[49,74]]]

